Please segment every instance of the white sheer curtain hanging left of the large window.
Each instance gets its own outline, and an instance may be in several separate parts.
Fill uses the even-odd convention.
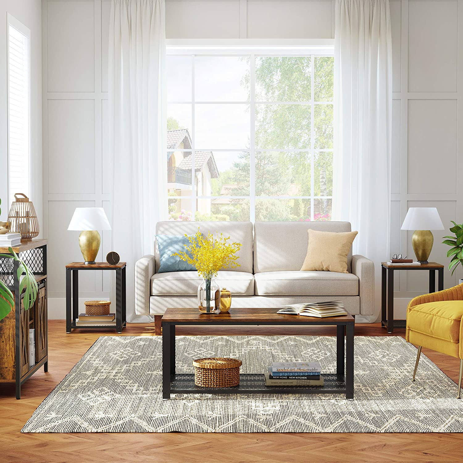
[[[148,321],[135,315],[134,266],[167,218],[164,0],[112,0],[108,67],[112,249],[127,262],[127,320]]]

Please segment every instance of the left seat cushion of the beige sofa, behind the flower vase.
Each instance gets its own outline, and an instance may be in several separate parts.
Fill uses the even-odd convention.
[[[219,288],[227,288],[236,296],[254,294],[254,275],[222,270],[215,278]],[[155,273],[151,277],[152,296],[196,296],[202,278],[198,272]]]

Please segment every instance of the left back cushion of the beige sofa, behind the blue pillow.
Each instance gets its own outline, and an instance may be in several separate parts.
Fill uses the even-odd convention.
[[[252,273],[253,236],[251,222],[177,222],[169,220],[156,224],[156,235],[184,235],[185,233],[187,235],[193,235],[198,232],[198,228],[203,235],[206,235],[208,232],[215,235],[219,232],[223,233],[225,236],[230,236],[231,242],[237,241],[241,243],[241,249],[237,252],[240,267],[237,267],[235,271]],[[154,249],[157,272],[159,269],[160,257],[156,241],[154,243]]]

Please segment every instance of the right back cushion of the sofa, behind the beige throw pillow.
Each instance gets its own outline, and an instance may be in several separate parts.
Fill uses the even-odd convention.
[[[307,255],[307,230],[350,232],[349,222],[256,222],[254,273],[300,270]],[[352,252],[347,255],[350,272]]]

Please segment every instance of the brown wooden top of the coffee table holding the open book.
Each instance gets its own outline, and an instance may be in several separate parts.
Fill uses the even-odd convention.
[[[231,325],[235,322],[239,323],[271,323],[285,325],[287,323],[301,323],[310,324],[316,323],[322,325],[332,324],[332,322],[354,322],[355,319],[352,315],[339,315],[338,317],[307,317],[305,315],[287,315],[283,313],[276,313],[278,308],[231,308],[230,312],[222,312],[219,314],[206,314],[200,313],[197,308],[168,308],[163,315],[163,322],[170,323],[204,323],[208,324],[211,322]]]

